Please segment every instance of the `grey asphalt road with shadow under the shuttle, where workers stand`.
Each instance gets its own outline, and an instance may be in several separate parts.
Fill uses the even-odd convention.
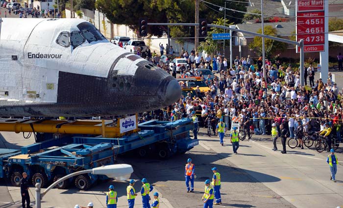
[[[202,132],[202,133],[201,133]],[[143,177],[152,183],[154,191],[161,194],[161,208],[202,207],[204,181],[212,178],[211,168],[216,166],[222,178],[222,202],[216,207],[228,208],[336,208],[343,206],[343,168],[338,167],[337,180],[329,180],[330,170],[326,163],[327,153],[319,154],[313,149],[288,150],[288,154],[271,150],[270,136],[253,136],[251,141],[242,141],[238,155],[232,154],[232,146],[225,138],[224,146],[219,138],[208,137],[205,129],[200,129],[199,142],[184,155],[168,160],[153,157],[135,158],[122,156],[119,162],[131,164],[133,179]],[[19,149],[33,143],[33,138],[25,140],[22,134],[1,132],[0,148]],[[278,144],[279,150],[281,145]],[[188,157],[195,163],[195,192],[187,193],[184,182],[184,165]],[[343,158],[342,149],[338,158]],[[110,184],[118,191],[118,207],[127,207],[127,182],[101,182],[90,190],[78,191],[52,189],[43,199],[44,208],[67,208],[75,204],[105,207],[104,191]],[[20,208],[20,190],[1,180],[0,208]],[[135,185],[140,189],[140,182]],[[154,192],[153,191],[153,192]],[[34,202],[34,188],[30,188]],[[141,198],[136,199],[136,207],[141,206]]]

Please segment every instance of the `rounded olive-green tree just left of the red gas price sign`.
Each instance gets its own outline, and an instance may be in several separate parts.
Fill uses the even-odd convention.
[[[262,29],[258,29],[256,32],[262,34]],[[264,33],[265,35],[276,36],[277,29],[272,26],[265,26]],[[262,37],[254,37],[254,40],[249,44],[249,48],[257,51],[260,55],[262,55]],[[270,56],[273,52],[275,52],[275,50],[285,51],[286,49],[287,43],[265,38],[265,53],[267,57]]]

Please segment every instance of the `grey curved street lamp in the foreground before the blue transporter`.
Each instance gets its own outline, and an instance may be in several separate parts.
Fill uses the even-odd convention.
[[[71,173],[65,177],[60,178],[56,182],[53,182],[43,193],[41,193],[41,183],[36,183],[36,208],[41,208],[41,200],[48,191],[55,187],[58,183],[63,182],[66,179],[72,178],[74,176],[92,173],[94,175],[106,175],[108,178],[114,178],[117,181],[125,181],[130,178],[133,169],[131,165],[128,164],[115,164],[115,165],[106,165],[89,170],[81,170],[75,173]]]

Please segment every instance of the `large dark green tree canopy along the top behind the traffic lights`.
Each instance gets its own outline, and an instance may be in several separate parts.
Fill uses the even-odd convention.
[[[211,0],[211,3],[224,7],[223,0]],[[96,8],[103,12],[113,24],[123,24],[133,30],[139,29],[138,19],[146,17],[148,23],[194,23],[195,3],[194,0],[97,0]],[[227,2],[227,8],[246,11],[245,3]],[[243,13],[233,13],[227,10],[230,22],[240,23]],[[208,23],[223,17],[223,13],[217,7],[200,2],[199,18],[207,18]],[[149,26],[148,32],[151,35],[162,36],[167,31],[167,26]],[[194,37],[195,27],[171,26],[171,37]],[[182,43],[183,40],[179,40]]]

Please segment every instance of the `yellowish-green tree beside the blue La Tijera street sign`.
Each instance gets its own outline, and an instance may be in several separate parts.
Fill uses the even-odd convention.
[[[225,20],[223,18],[217,19],[217,21],[214,21],[212,24],[213,25],[219,25],[223,26],[225,22],[226,26],[232,25],[229,23],[229,20]],[[205,38],[205,41],[200,43],[200,46],[198,48],[198,51],[205,51],[209,54],[213,54],[216,52],[217,47],[218,47],[218,40],[213,40],[212,39],[212,34],[213,33],[223,33],[224,29],[217,28],[217,27],[211,27],[211,29],[207,32],[207,37]],[[225,44],[229,44],[230,40],[225,40]]]

